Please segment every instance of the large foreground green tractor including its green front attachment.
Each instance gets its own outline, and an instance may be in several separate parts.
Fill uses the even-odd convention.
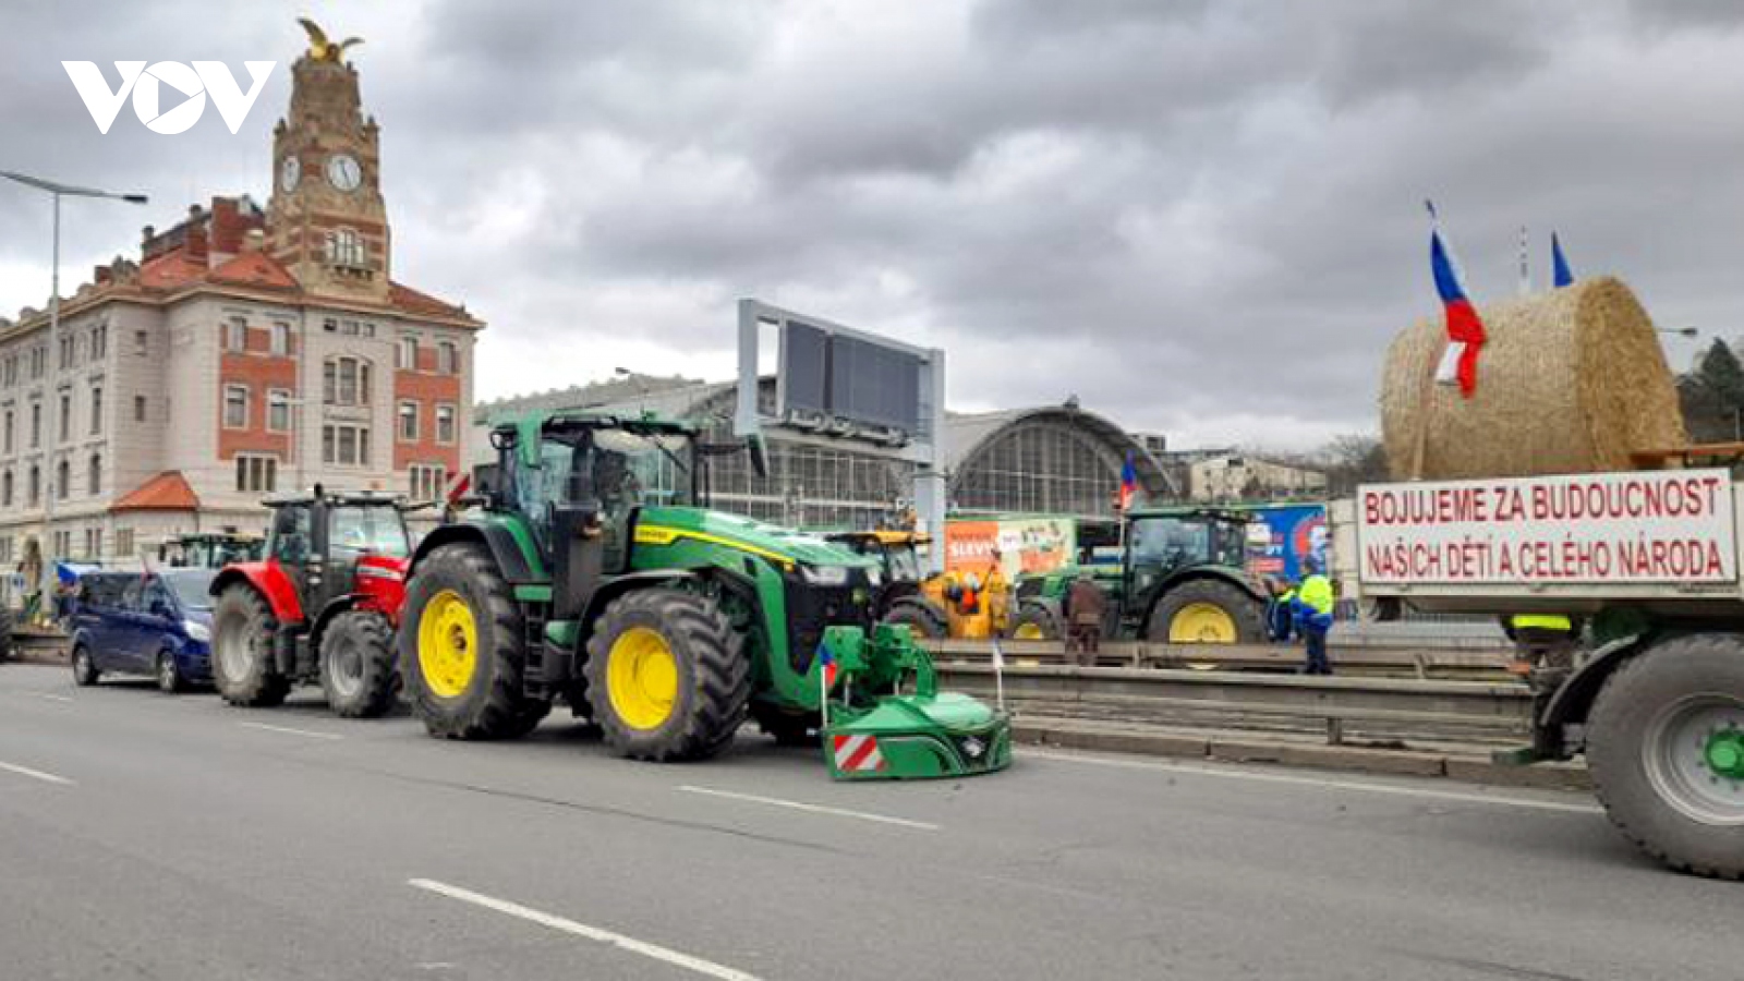
[[[1010,763],[1003,712],[938,693],[907,630],[872,628],[872,560],[701,506],[708,457],[738,447],[589,412],[501,424],[492,445],[480,497],[408,574],[401,670],[433,735],[518,737],[567,702],[637,759],[713,756],[752,717],[821,735],[841,779]]]

